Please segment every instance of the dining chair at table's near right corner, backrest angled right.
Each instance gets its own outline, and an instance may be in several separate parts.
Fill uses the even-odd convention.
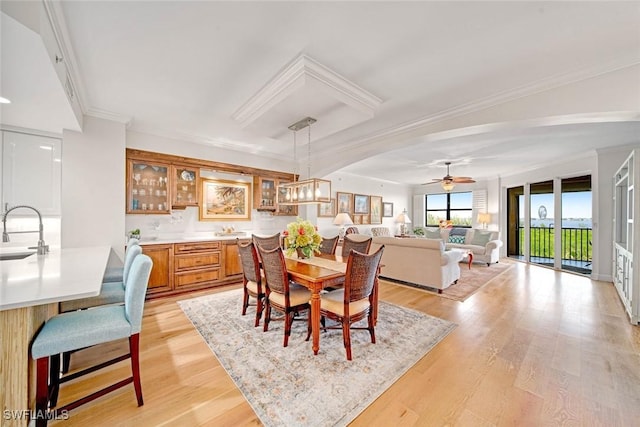
[[[344,287],[320,295],[320,316],[324,329],[342,329],[342,341],[347,351],[347,360],[351,360],[351,330],[368,330],[371,342],[376,343],[374,318],[376,313],[378,286],[378,268],[384,245],[371,255],[351,251],[347,259]],[[340,323],[327,327],[325,318]],[[367,319],[366,327],[352,326],[355,322]]]

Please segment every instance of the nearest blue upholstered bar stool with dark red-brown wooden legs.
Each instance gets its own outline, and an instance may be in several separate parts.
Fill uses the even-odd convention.
[[[124,305],[106,305],[58,314],[36,335],[31,356],[36,360],[36,427],[44,427],[56,412],[69,411],[113,390],[133,383],[138,406],[143,405],[140,384],[139,342],[142,313],[152,267],[147,255],[136,256],[125,286]],[[80,372],[60,376],[60,354],[110,341],[129,338],[129,353]],[[60,384],[131,359],[132,375],[86,397],[56,408]],[[50,412],[54,410],[56,412]]]

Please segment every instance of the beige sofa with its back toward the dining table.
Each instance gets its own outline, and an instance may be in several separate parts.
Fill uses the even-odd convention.
[[[380,277],[415,283],[442,292],[460,278],[462,253],[446,252],[441,240],[374,237],[370,253],[384,245]]]

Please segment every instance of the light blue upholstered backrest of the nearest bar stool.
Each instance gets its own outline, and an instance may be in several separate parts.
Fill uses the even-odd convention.
[[[125,282],[124,312],[131,324],[131,334],[137,334],[142,329],[144,298],[147,295],[152,267],[153,261],[148,255],[141,254],[135,257]]]

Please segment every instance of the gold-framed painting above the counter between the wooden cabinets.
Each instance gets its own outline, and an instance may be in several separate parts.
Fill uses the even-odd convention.
[[[202,179],[201,220],[250,220],[249,182]]]

